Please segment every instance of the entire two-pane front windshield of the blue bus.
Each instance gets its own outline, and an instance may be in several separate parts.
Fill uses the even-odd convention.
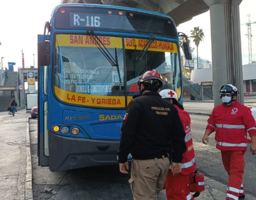
[[[110,36],[98,38],[113,58],[116,54],[119,72],[95,43],[93,36],[56,35],[54,91],[63,103],[125,108],[125,96],[128,96],[129,102],[131,96],[139,94],[138,79],[152,69],[162,75],[163,89],[178,91],[181,88],[177,44],[153,41],[145,54],[136,59],[148,40]]]

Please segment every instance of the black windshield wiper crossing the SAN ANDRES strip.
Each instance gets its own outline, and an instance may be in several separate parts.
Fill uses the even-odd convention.
[[[98,44],[98,46],[97,46],[98,49],[103,54],[103,56],[105,56],[105,58],[108,60],[108,62],[110,62],[111,66],[116,67],[116,69],[118,71],[118,76],[119,76],[119,79],[120,79],[120,83],[121,83],[121,76],[120,76],[120,69],[119,69],[119,64],[118,64],[118,56],[117,56],[116,48],[115,48],[115,58],[116,59],[114,59],[113,56],[108,51],[108,49],[103,44],[103,42],[101,42],[100,38],[95,34],[95,32],[93,30],[89,30],[87,32],[88,32],[88,34],[90,34],[91,37],[93,37],[96,44]],[[96,37],[96,39],[95,39],[95,37]],[[101,45],[104,47],[104,49]]]

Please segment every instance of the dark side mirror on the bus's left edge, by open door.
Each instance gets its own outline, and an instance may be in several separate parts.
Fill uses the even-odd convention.
[[[49,66],[51,63],[50,42],[38,43],[38,64],[39,66]]]

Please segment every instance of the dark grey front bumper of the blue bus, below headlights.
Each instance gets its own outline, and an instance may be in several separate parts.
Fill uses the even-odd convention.
[[[51,171],[118,164],[116,152],[120,141],[71,138],[49,133],[49,168]]]

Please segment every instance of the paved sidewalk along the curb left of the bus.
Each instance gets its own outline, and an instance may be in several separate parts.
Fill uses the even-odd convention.
[[[0,113],[0,199],[33,199],[28,117]]]

